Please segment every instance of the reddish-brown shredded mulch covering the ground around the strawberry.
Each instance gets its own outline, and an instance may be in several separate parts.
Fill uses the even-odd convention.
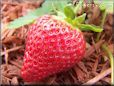
[[[113,52],[112,44],[112,14],[108,14],[104,24],[104,31],[101,33],[100,40],[96,43],[94,32],[83,32],[87,41],[87,50],[84,59],[76,64],[69,71],[47,77],[42,82],[27,83],[20,76],[20,70],[23,64],[23,55],[25,49],[25,39],[30,25],[19,29],[7,29],[6,25],[14,19],[26,15],[29,11],[40,7],[43,0],[37,2],[29,0],[3,0],[2,5],[2,29],[1,29],[1,78],[2,84],[23,85],[23,84],[94,84],[110,85],[111,68],[110,60],[107,54],[102,50],[103,43],[107,43]],[[100,24],[101,12],[98,7],[91,10],[85,8],[89,24]],[[79,15],[81,12],[78,13]],[[29,76],[28,76],[29,77]]]

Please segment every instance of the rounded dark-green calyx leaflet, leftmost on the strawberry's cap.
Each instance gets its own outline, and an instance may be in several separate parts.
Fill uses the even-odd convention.
[[[64,14],[68,18],[71,18],[71,19],[75,18],[75,13],[74,13],[73,9],[71,8],[71,6],[64,7]]]

